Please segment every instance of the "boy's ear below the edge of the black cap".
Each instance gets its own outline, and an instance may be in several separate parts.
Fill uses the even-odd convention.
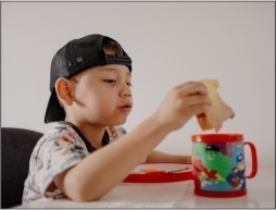
[[[72,106],[73,101],[74,101],[74,97],[73,97],[72,91],[73,91],[72,85],[71,85],[71,82],[68,79],[66,79],[64,77],[60,77],[55,82],[57,96],[59,97],[59,99],[61,101],[63,101],[67,106]]]

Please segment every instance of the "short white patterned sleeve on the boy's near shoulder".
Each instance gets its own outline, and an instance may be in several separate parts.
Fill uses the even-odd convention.
[[[71,127],[65,127],[46,136],[43,144],[34,156],[37,162],[35,169],[37,173],[34,177],[36,190],[47,196],[47,187],[53,180],[68,168],[79,163],[88,156],[88,151],[77,133]]]

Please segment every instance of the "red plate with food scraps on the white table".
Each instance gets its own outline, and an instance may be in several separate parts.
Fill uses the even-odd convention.
[[[191,164],[142,163],[123,181],[124,183],[168,183],[192,180]]]

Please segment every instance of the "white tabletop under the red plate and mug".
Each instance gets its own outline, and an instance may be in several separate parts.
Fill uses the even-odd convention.
[[[248,169],[250,170],[250,169]],[[193,182],[118,185],[98,201],[39,199],[16,208],[275,208],[275,168],[259,168],[247,180],[248,194],[236,198],[193,195]]]

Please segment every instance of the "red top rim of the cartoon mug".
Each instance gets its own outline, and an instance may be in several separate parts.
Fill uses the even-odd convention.
[[[197,134],[191,136],[195,143],[235,143],[242,141],[242,134]]]

